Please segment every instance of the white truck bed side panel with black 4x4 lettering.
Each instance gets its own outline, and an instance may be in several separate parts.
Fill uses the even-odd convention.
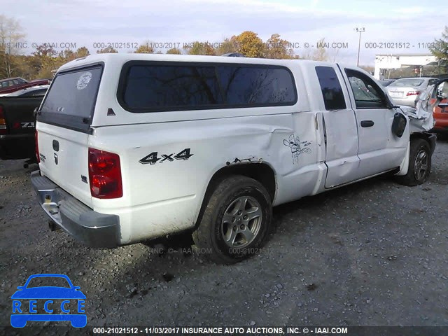
[[[314,125],[311,115],[307,123]],[[302,125],[302,135],[295,132],[296,126],[292,113],[286,113],[98,128],[90,146],[120,153],[124,195],[107,202],[94,199],[94,210],[120,216],[123,244],[191,228],[211,176],[227,162],[266,162],[279,179],[290,175],[292,181],[297,169],[316,160],[314,130]],[[291,134],[311,151],[300,154],[297,163],[291,148],[283,144]],[[279,182],[283,187],[286,184]]]

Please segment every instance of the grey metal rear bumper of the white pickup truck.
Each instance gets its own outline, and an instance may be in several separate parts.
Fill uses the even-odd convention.
[[[118,216],[93,211],[39,171],[31,173],[31,184],[45,214],[73,238],[90,247],[119,245]]]

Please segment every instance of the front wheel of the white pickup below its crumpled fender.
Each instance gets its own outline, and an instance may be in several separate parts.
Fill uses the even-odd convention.
[[[409,167],[407,174],[397,176],[398,183],[404,186],[419,186],[425,183],[431,171],[431,150],[428,141],[414,139],[409,148]]]

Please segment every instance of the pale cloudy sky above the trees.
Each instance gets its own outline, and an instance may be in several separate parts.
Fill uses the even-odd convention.
[[[444,0],[2,0],[3,13],[20,22],[24,53],[33,45],[68,45],[91,53],[113,43],[129,52],[145,41],[156,47],[193,41],[218,43],[251,30],[266,41],[272,34],[290,41],[303,55],[325,38],[335,62],[356,64],[356,27],[364,27],[360,65],[374,65],[376,54],[429,54],[427,43],[448,25]],[[400,43],[402,43],[400,45]],[[95,48],[97,47],[97,48]],[[117,48],[118,47],[118,48]],[[338,48],[339,47],[339,48]],[[72,48],[72,49],[76,49]],[[166,51],[165,48],[156,48]]]

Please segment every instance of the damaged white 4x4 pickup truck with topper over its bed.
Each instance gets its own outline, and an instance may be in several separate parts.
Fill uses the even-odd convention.
[[[191,232],[218,262],[258,251],[278,204],[386,172],[423,183],[435,148],[367,72],[306,60],[92,55],[37,114],[54,227],[98,247]]]

